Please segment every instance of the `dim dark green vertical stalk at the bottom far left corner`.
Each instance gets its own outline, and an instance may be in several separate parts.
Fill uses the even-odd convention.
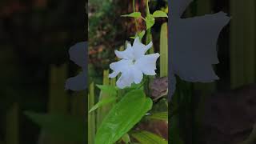
[[[6,113],[6,144],[19,143],[18,111],[18,103],[14,102]]]

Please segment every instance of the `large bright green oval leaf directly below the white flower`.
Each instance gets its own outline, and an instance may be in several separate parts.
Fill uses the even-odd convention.
[[[143,90],[128,92],[106,115],[98,128],[95,144],[113,144],[118,141],[152,108],[152,103]]]

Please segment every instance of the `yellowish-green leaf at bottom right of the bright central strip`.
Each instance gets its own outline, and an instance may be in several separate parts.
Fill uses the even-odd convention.
[[[141,144],[167,144],[166,139],[148,131],[136,131],[131,134]]]

